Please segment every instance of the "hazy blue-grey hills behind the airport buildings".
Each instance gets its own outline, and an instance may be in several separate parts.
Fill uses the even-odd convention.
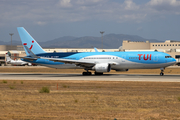
[[[156,39],[145,39],[137,35],[126,34],[107,34],[103,36],[103,48],[112,49],[119,48],[123,40],[130,41],[147,41],[162,42]],[[1,45],[10,45],[11,42],[1,42]],[[72,37],[65,36],[46,42],[38,42],[43,48],[102,48],[101,37],[85,36],[85,37]],[[21,41],[13,40],[13,45],[21,45]]]

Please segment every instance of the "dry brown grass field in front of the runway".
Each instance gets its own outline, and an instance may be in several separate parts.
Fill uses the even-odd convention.
[[[8,80],[9,84],[14,85],[13,82]],[[57,83],[71,87],[57,90]],[[42,87],[42,91],[49,88],[51,94],[40,94],[39,86],[49,86]],[[11,91],[7,85],[0,84],[0,118],[179,119],[179,86],[178,82],[63,80],[27,80],[21,85],[19,80]]]

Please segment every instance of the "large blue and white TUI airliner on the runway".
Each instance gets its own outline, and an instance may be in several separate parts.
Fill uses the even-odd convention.
[[[27,55],[21,58],[23,61],[57,69],[84,69],[82,75],[92,75],[89,71],[103,75],[111,70],[160,68],[163,76],[164,69],[176,63],[169,54],[158,51],[47,53],[23,27],[17,30]]]

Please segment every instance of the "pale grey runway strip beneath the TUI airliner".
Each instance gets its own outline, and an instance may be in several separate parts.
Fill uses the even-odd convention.
[[[180,82],[180,75],[157,74],[104,74],[101,76],[82,76],[81,74],[34,74],[0,73],[0,80],[91,80],[91,81],[154,81]]]

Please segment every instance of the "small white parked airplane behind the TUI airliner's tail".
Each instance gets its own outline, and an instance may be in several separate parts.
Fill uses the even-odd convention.
[[[8,53],[6,53],[6,63],[11,64],[11,65],[20,65],[20,66],[25,66],[25,65],[30,66],[30,65],[32,65],[31,63],[24,62],[22,60],[12,60],[10,58],[10,56],[8,55]]]

